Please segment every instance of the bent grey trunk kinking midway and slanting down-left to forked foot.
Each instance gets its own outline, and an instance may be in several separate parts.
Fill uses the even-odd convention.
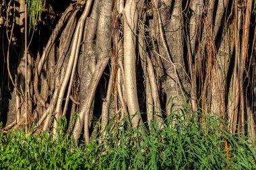
[[[111,54],[111,34],[110,34],[110,23],[111,23],[111,9],[112,9],[113,1],[112,0],[104,0],[100,3],[100,14],[98,20],[98,32],[97,32],[97,47],[100,51],[98,56],[98,61],[95,67],[94,74],[92,76],[92,80],[90,82],[89,90],[90,93],[86,94],[86,98],[82,101],[82,110],[79,113],[79,120],[75,122],[75,128],[73,130],[73,136],[75,140],[78,140],[80,133],[82,132],[82,124],[80,122],[84,121],[84,133],[86,142],[90,140],[89,134],[89,112],[90,107],[92,105],[92,101],[94,99],[94,95],[96,93],[96,87],[98,86],[98,82],[100,81],[100,77],[106,65],[108,64],[108,60]]]

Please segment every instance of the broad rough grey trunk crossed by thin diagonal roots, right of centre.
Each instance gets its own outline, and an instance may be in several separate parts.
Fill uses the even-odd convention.
[[[186,103],[186,95],[189,93],[190,84],[187,80],[187,75],[185,75],[185,65],[183,59],[183,15],[182,2],[174,1],[174,6],[172,11],[169,7],[160,8],[160,17],[162,22],[165,23],[163,30],[165,32],[164,38],[168,45],[168,51],[162,46],[162,42],[158,42],[160,46],[160,54],[167,58],[168,52],[170,53],[170,60],[162,60],[164,63],[164,69],[166,70],[166,81],[164,83],[164,91],[166,93],[166,101],[170,97],[177,97],[174,100],[174,104]],[[166,105],[166,112],[170,114],[171,105]]]

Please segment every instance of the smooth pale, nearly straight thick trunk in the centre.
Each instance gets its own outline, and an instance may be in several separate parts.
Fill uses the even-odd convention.
[[[124,9],[124,69],[125,69],[125,93],[127,97],[127,106],[133,127],[141,124],[139,115],[139,102],[137,98],[136,84],[136,32],[137,32],[137,3],[128,0]]]

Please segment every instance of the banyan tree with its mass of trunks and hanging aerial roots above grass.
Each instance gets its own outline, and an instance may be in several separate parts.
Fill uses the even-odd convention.
[[[255,139],[253,0],[1,0],[3,130],[162,122],[186,105]],[[33,126],[32,126],[33,124]],[[24,128],[25,127],[25,128]],[[150,127],[150,126],[148,126]],[[202,126],[203,128],[203,126]]]

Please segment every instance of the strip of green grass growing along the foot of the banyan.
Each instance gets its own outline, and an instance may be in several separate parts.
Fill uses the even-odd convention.
[[[68,134],[55,141],[50,132],[25,136],[0,135],[0,169],[256,169],[256,144],[220,128],[220,120],[207,118],[204,128],[182,108],[166,118],[158,130],[143,124],[131,128],[123,122],[89,144],[75,144]],[[63,132],[63,131],[61,131]],[[135,135],[134,135],[135,134]],[[225,139],[230,159],[226,158]]]

